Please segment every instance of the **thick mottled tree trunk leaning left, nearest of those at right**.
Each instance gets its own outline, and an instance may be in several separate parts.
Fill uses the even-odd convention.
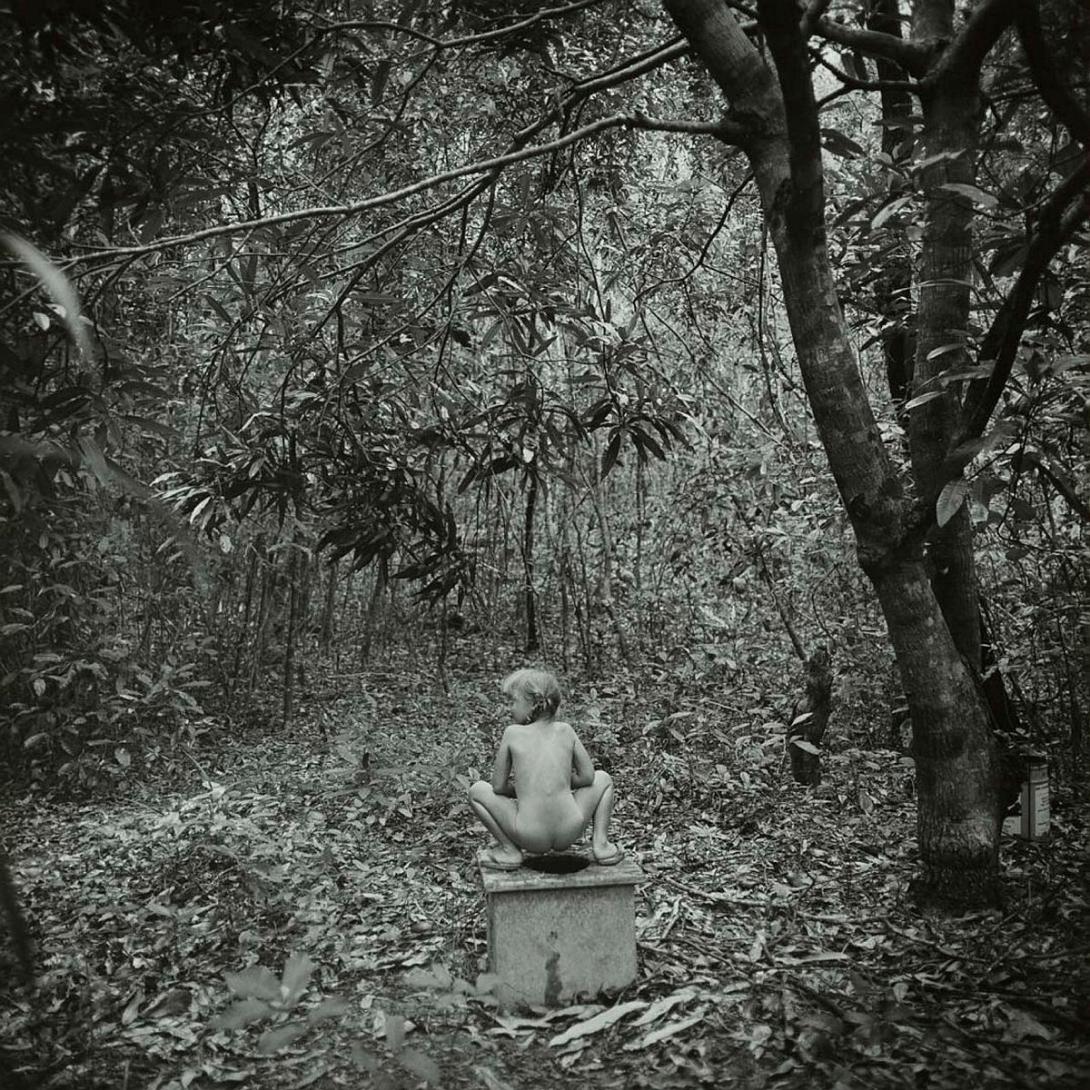
[[[794,0],[761,0],[778,75],[717,0],[667,0],[731,102],[724,133],[753,166],[799,367],[829,467],[885,614],[912,715],[924,899],[994,899],[995,756],[988,715],[940,608],[911,513],[868,401],[840,311],[824,226],[818,109]]]

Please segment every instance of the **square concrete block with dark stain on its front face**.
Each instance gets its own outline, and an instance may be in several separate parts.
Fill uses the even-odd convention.
[[[488,907],[488,971],[508,1006],[571,1003],[635,980],[631,860],[574,874],[481,868]]]

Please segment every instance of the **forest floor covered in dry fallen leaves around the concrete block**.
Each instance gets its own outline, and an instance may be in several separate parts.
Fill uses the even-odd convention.
[[[28,1086],[1090,1086],[1071,791],[1046,843],[1005,838],[1002,910],[923,916],[910,761],[834,719],[807,790],[773,710],[656,718],[600,686],[568,712],[646,874],[639,977],[504,1012],[463,803],[505,722],[495,675],[331,685],[289,734],[239,726],[110,797],[0,807],[39,952],[33,991],[0,990],[0,1056]]]

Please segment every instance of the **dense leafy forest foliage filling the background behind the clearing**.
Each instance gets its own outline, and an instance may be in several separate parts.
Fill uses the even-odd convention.
[[[403,634],[446,663],[486,625],[508,654],[532,608],[561,664],[650,662],[708,688],[778,675],[788,626],[831,639],[877,679],[850,699],[880,732],[887,655],[740,157],[618,129],[455,177],[615,110],[704,116],[694,71],[615,78],[668,40],[662,17],[528,9],[508,34],[510,13],[480,4],[350,28],[320,4],[228,20],[216,4],[107,8],[47,5],[17,32],[0,16],[21,43],[0,211],[56,258],[16,275],[0,338],[19,556],[3,582],[23,588],[0,597],[22,610],[2,620],[20,705],[7,729],[36,738],[27,760],[63,763],[69,747],[121,771],[116,749],[192,739],[206,711],[277,714],[272,680],[287,723],[316,652],[365,659]],[[1047,7],[1049,33],[1065,12]],[[1006,45],[995,65],[997,81],[1026,74]],[[909,417],[986,378],[972,359],[986,319],[1049,179],[1077,166],[1036,99],[1003,100],[974,182],[944,183],[980,213],[986,276],[980,326],[934,360],[969,360],[934,389],[875,398],[906,475]],[[822,114],[838,288],[873,388],[883,338],[915,328],[910,293],[891,302],[882,283],[909,261],[942,166],[913,159],[919,124],[864,96]],[[302,214],[307,194],[326,211]],[[117,249],[190,232],[132,262]],[[1042,279],[1010,397],[950,451],[937,497],[943,522],[969,510],[1007,622],[1000,657],[1041,682],[1025,702],[1044,707],[1088,699],[1079,649],[1061,643],[1079,627],[1061,589],[1086,548],[1083,250],[1076,235]],[[1021,555],[1015,531],[1031,526]],[[78,580],[53,570],[75,557]],[[27,596],[34,580],[75,597]],[[1027,594],[1036,583],[1049,593]],[[75,695],[88,688],[95,701]]]

